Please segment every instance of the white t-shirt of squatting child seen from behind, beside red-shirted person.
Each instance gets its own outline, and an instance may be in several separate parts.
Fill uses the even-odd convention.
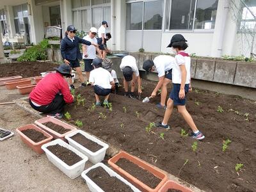
[[[104,89],[111,89],[110,82],[114,81],[108,70],[99,67],[90,72],[89,82],[93,85],[101,86]]]

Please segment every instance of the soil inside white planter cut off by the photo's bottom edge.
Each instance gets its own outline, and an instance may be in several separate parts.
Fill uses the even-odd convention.
[[[116,177],[110,177],[108,172],[106,172],[102,167],[97,167],[86,175],[99,186],[103,191],[112,192],[112,191],[125,191],[132,192],[132,189],[127,186],[124,182],[117,179]]]

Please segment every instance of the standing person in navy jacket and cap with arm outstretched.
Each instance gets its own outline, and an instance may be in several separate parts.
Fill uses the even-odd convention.
[[[83,38],[79,38],[76,36],[76,28],[74,26],[68,26],[66,36],[61,41],[61,56],[65,64],[70,65],[70,67],[76,70],[77,75],[81,81],[80,86],[86,86],[79,63],[79,60],[82,60],[79,44],[94,45],[96,47],[98,46],[97,44],[86,41]],[[72,79],[68,78],[68,81],[70,83],[70,88],[74,89],[75,87],[72,84]]]

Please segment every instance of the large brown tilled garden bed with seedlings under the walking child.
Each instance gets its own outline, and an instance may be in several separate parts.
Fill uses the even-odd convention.
[[[156,82],[143,80],[142,85],[144,98],[151,94]],[[180,134],[181,129],[188,133],[191,129],[177,109],[169,120],[169,131],[156,127],[145,131],[150,122],[163,120],[164,109],[156,108],[160,97],[142,103],[111,94],[113,111],[102,107],[93,110],[93,88],[77,88],[76,92],[86,99],[84,106],[74,102],[65,111],[72,116],[70,123],[75,124],[77,119],[83,122],[84,131],[205,191],[256,191],[256,102],[204,90],[188,93],[187,109],[205,134],[193,152],[191,145],[195,140]],[[106,120],[99,118],[99,113],[106,115]],[[161,133],[164,139],[160,138]],[[223,141],[227,139],[232,142],[223,152]],[[237,163],[244,165],[238,173]]]

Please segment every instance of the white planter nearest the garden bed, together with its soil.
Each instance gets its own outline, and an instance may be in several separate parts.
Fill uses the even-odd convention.
[[[86,155],[93,164],[104,159],[109,147],[108,144],[81,130],[67,134],[65,139],[68,140],[69,145]]]

